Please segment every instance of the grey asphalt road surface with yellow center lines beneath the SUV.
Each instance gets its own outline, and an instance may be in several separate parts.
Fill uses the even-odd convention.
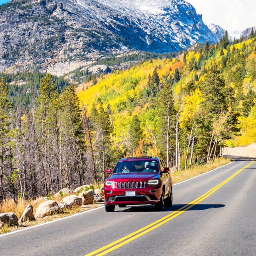
[[[100,208],[0,236],[0,256],[256,255],[256,162],[236,158],[173,193],[164,212]]]

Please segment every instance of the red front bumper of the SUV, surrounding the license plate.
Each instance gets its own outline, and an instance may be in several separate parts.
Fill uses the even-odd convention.
[[[136,196],[126,196],[126,191],[136,191]],[[135,190],[105,187],[104,193],[107,205],[156,204],[160,201],[162,190],[160,186],[148,186]]]

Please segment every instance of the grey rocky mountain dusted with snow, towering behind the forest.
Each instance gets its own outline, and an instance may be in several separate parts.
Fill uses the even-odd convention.
[[[0,72],[56,75],[104,56],[174,52],[224,33],[184,0],[16,0],[0,6],[0,24]]]

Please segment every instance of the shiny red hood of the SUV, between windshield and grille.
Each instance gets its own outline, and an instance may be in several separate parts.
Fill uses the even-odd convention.
[[[150,179],[157,179],[160,178],[159,173],[118,173],[118,174],[112,174],[108,178],[108,180],[115,180],[115,181],[145,181]]]

